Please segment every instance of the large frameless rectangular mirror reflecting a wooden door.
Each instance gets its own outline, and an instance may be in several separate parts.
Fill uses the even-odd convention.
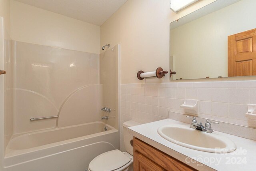
[[[170,23],[170,80],[255,76],[255,8],[217,0]]]

